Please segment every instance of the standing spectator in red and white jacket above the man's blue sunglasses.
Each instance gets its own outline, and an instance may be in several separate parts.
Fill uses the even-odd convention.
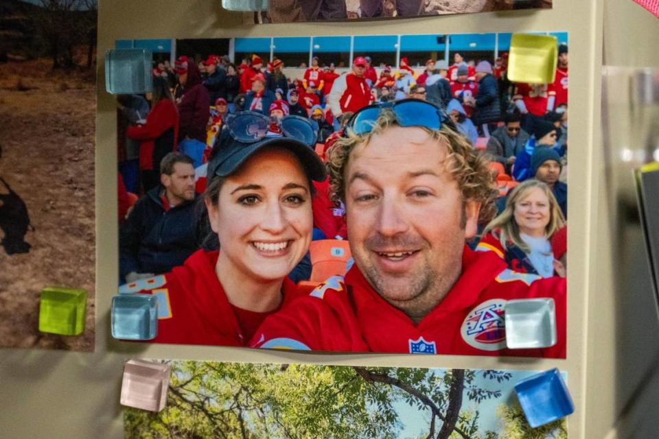
[[[352,70],[334,81],[332,93],[327,97],[334,117],[346,111],[356,112],[371,103],[371,89],[364,78],[365,71],[366,60],[358,56],[352,63]]]

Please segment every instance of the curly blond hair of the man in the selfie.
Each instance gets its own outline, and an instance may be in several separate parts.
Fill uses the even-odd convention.
[[[334,202],[345,202],[345,170],[348,165],[350,153],[357,145],[368,144],[373,136],[382,134],[384,130],[393,126],[400,126],[395,113],[384,108],[378,119],[373,123],[371,132],[358,135],[347,129],[347,137],[341,137],[329,148],[327,152],[327,170],[331,187],[331,198]],[[494,175],[487,167],[486,158],[477,154],[470,141],[452,128],[442,126],[440,130],[424,129],[432,139],[448,147],[448,155],[443,163],[446,170],[458,182],[463,202],[475,201],[481,203],[478,215],[479,224],[487,224],[496,215],[494,202],[498,191],[494,183]]]

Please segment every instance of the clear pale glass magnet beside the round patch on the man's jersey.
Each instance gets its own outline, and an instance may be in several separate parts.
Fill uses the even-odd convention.
[[[508,300],[504,313],[509,349],[548,348],[556,344],[553,298]]]

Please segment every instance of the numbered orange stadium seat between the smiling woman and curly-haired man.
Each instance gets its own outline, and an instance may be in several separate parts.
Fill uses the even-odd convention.
[[[312,241],[309,252],[312,265],[311,278],[297,284],[299,287],[309,290],[314,289],[329,277],[337,274],[343,276],[351,257],[348,241],[340,239]]]

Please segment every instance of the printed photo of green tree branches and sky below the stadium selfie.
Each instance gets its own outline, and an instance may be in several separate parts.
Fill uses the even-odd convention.
[[[568,438],[564,418],[527,422],[530,370],[165,363],[167,405],[125,407],[126,438]]]

